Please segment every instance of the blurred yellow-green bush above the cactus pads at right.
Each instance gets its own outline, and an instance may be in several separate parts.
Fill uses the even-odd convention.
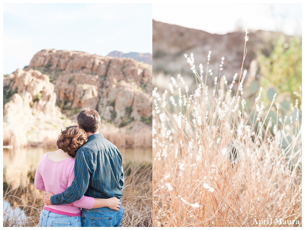
[[[300,38],[292,38],[289,43],[285,43],[280,38],[274,45],[274,50],[269,57],[258,55],[261,82],[260,85],[265,90],[264,100],[282,92],[300,93],[299,87],[302,85],[302,41]],[[270,89],[275,87],[275,89]],[[267,90],[267,91],[266,91]],[[273,95],[269,94],[273,92]],[[268,95],[267,95],[268,94]],[[297,99],[294,95],[293,99]],[[272,99],[271,99],[272,100]]]

